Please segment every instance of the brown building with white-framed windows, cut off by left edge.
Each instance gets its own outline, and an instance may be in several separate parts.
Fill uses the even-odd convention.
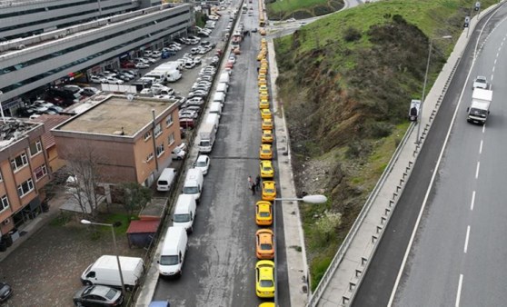
[[[0,233],[42,212],[41,189],[49,182],[43,124],[0,119]]]

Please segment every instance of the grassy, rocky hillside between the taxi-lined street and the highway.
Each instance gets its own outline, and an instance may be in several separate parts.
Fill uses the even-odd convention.
[[[431,85],[471,5],[376,2],[275,40],[298,192],[329,196],[323,205],[302,206],[312,288],[408,127],[410,100],[422,93],[429,37],[453,37],[433,42]]]

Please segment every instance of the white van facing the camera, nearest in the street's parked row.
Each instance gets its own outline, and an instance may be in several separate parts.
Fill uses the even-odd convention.
[[[162,276],[181,276],[184,256],[188,248],[188,236],[184,227],[167,228],[164,245],[158,262],[158,272]]]

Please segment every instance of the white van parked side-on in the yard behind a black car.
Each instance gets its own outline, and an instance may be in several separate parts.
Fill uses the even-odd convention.
[[[141,258],[120,256],[120,264],[124,276],[124,285],[132,290],[139,283],[144,272],[144,262]],[[120,272],[116,256],[104,255],[90,264],[81,275],[81,282],[87,284],[103,284],[121,287]]]

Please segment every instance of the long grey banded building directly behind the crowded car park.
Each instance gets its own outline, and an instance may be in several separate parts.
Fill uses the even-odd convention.
[[[138,55],[135,50],[161,48],[191,25],[190,5],[158,5],[0,43],[5,114],[15,114],[23,94],[57,80],[119,68],[121,59]]]

